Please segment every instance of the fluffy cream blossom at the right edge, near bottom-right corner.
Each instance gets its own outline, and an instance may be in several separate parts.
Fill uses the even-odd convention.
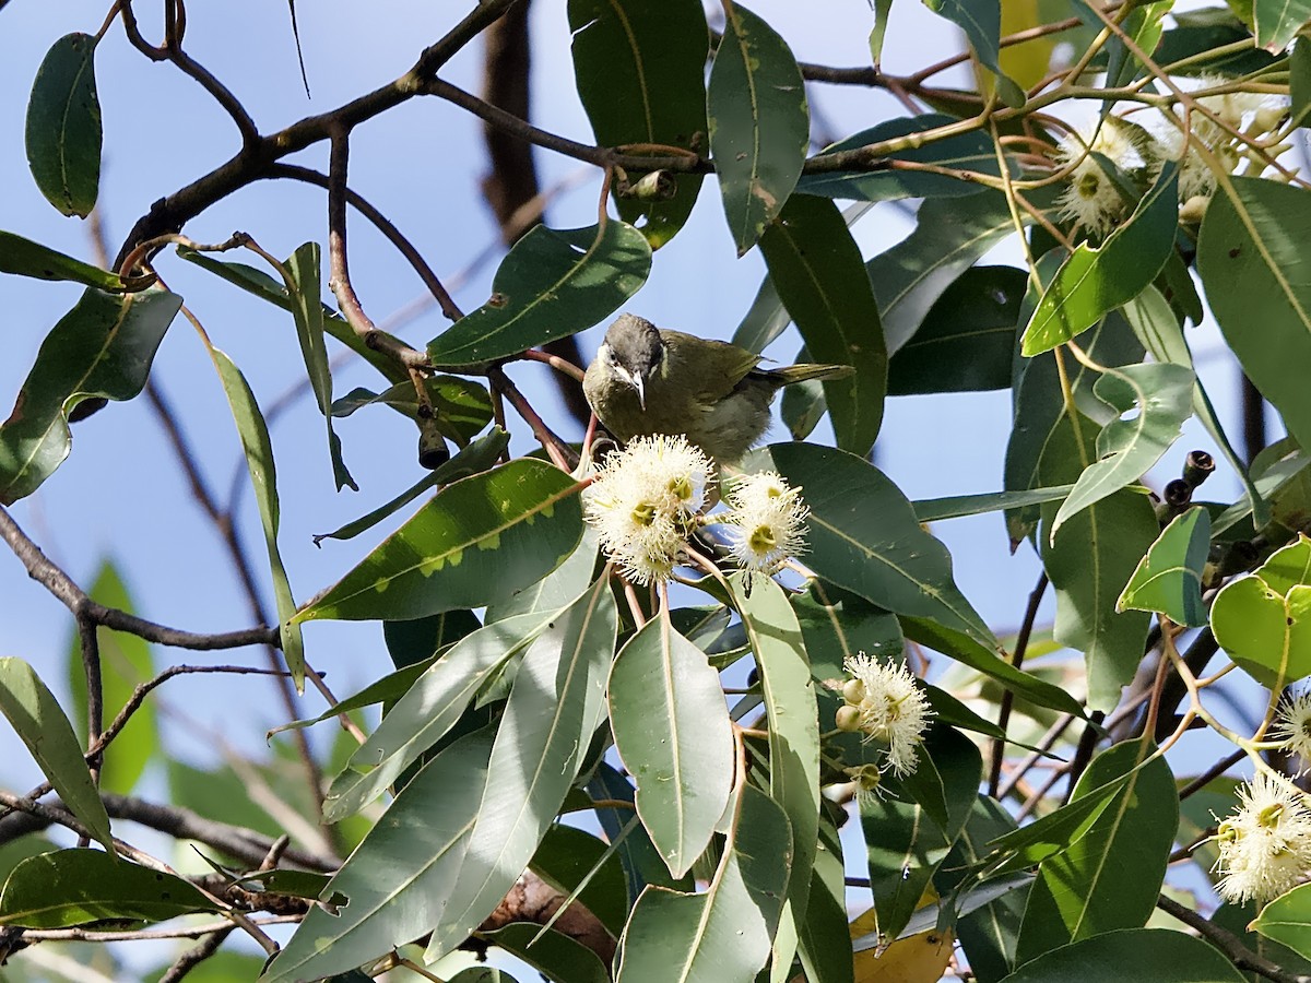
[[[1238,810],[1215,834],[1222,874],[1215,889],[1235,904],[1264,904],[1311,872],[1311,810],[1297,788],[1264,772],[1238,794]]]

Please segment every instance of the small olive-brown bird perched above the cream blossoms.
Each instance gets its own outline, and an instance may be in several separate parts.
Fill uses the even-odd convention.
[[[770,426],[779,389],[855,371],[834,364],[760,368],[760,362],[738,345],[623,313],[606,330],[582,387],[597,418],[621,444],[682,434],[718,464],[737,464]]]

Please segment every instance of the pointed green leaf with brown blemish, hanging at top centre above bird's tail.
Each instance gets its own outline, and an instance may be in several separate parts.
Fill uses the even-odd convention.
[[[738,256],[783,210],[810,144],[805,81],[788,43],[739,4],[711,66],[711,155]]]

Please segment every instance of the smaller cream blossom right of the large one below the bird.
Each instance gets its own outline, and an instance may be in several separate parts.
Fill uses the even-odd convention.
[[[810,510],[801,489],[788,488],[777,473],[742,476],[733,482],[728,503],[729,549],[743,570],[770,575],[805,549]]]

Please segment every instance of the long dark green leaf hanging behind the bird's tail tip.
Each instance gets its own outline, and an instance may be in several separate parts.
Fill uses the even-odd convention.
[[[838,446],[868,453],[884,418],[888,351],[860,249],[838,206],[792,195],[760,237],[760,253],[809,357],[855,368],[825,381],[823,395]]]

